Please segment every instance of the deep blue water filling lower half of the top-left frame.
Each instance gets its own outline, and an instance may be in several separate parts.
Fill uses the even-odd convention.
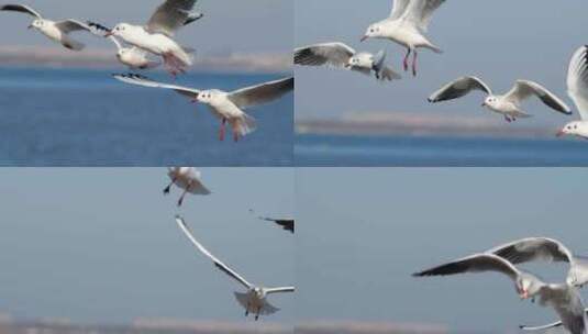
[[[1,166],[288,166],[292,94],[254,108],[258,129],[218,141],[206,105],[171,91],[124,85],[111,71],[0,68]],[[173,81],[163,74],[154,79]],[[195,88],[232,90],[285,75],[190,74]]]

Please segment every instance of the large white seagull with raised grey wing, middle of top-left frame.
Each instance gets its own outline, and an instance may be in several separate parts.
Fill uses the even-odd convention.
[[[162,56],[173,76],[186,73],[186,68],[192,65],[190,53],[193,51],[179,45],[174,40],[174,33],[202,16],[192,12],[196,2],[197,0],[166,0],[157,8],[147,25],[119,23],[107,33],[107,37],[118,36],[131,45]]]

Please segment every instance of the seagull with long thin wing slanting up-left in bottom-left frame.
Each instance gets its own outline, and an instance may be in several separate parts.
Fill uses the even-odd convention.
[[[271,305],[267,301],[267,297],[271,293],[295,292],[295,287],[264,288],[249,283],[246,279],[244,279],[236,271],[223,264],[220,259],[214,257],[214,255],[212,255],[207,248],[204,248],[204,246],[202,246],[195,238],[192,232],[190,231],[190,229],[181,216],[176,215],[176,222],[181,229],[181,231],[186,234],[186,236],[190,240],[190,242],[198,248],[198,250],[200,250],[200,253],[204,254],[208,258],[210,258],[217,268],[219,268],[224,274],[231,276],[233,279],[235,279],[237,282],[240,282],[247,289],[247,292],[245,293],[234,292],[237,302],[245,309],[245,316],[248,316],[249,313],[254,313],[255,321],[257,321],[259,319],[259,315],[276,313],[277,311],[279,311],[279,309]]]

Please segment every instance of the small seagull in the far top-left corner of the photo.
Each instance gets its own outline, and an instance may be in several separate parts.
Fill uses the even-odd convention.
[[[77,20],[68,19],[65,21],[55,22],[43,19],[37,11],[24,4],[4,4],[0,7],[0,10],[21,12],[34,16],[35,20],[29,25],[29,29],[37,30],[49,40],[55,41],[73,51],[81,51],[84,49],[85,45],[81,42],[73,40],[69,36],[69,33],[76,31],[91,31],[88,25]]]

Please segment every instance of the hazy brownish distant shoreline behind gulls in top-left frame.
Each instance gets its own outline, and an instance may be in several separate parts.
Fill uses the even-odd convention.
[[[1,46],[1,67],[91,68],[117,69],[123,65],[117,60],[114,49],[87,48],[70,52],[59,47]],[[191,73],[290,73],[289,54],[231,53],[223,55],[196,55]]]

